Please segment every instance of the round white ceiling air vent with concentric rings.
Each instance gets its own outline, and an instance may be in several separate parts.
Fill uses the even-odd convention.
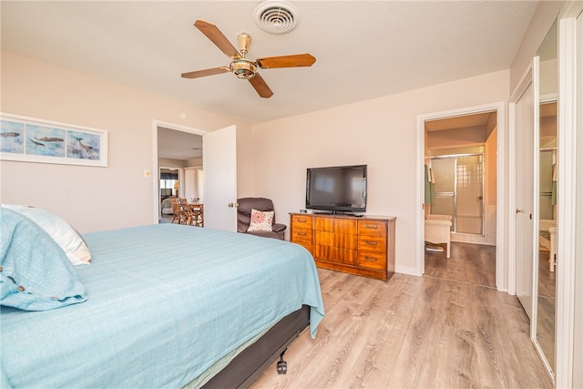
[[[300,23],[295,6],[281,0],[267,0],[255,8],[259,26],[270,34],[286,34]]]

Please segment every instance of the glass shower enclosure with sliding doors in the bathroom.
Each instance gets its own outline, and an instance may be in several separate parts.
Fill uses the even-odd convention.
[[[430,159],[434,182],[431,213],[452,216],[452,232],[484,236],[484,154]]]

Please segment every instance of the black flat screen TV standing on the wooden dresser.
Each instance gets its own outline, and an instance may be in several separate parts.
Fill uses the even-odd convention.
[[[310,168],[306,208],[331,213],[366,210],[366,165]]]

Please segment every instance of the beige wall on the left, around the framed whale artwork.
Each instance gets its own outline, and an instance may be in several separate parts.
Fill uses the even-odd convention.
[[[2,52],[2,111],[108,131],[108,167],[0,162],[0,200],[53,210],[81,232],[152,223],[152,120],[212,131],[250,126],[178,101]],[[180,114],[186,118],[180,118]],[[242,141],[242,140],[241,140]],[[249,155],[240,153],[241,164]],[[240,171],[250,190],[252,172]]]

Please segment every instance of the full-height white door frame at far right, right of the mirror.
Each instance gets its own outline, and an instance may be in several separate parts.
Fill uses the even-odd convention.
[[[580,351],[574,347],[581,337],[583,319],[576,304],[581,296],[576,294],[576,261],[583,258],[583,245],[577,240],[583,230],[583,221],[574,217],[581,215],[583,198],[583,173],[580,159],[583,157],[581,120],[578,113],[583,96],[580,80],[583,77],[583,44],[578,41],[581,34],[583,1],[567,2],[558,15],[558,110],[557,110],[557,314],[556,314],[556,367],[557,387],[573,387],[574,365],[580,362]],[[578,25],[579,22],[579,25]],[[579,45],[579,46],[578,46]],[[579,86],[579,89],[578,89]],[[579,116],[578,116],[579,115]],[[562,260],[561,260],[562,259]],[[580,263],[580,262],[579,262]],[[577,316],[578,313],[578,316]],[[580,380],[580,375],[578,376]]]

